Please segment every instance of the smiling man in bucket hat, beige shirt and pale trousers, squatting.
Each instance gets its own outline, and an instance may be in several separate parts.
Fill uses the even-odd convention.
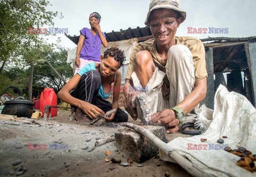
[[[180,130],[199,134],[194,110],[206,95],[203,43],[194,37],[174,36],[186,19],[179,0],[151,0],[145,25],[154,39],[137,44],[125,76],[125,109],[137,119],[135,96],[142,89],[150,109],[149,124],[165,125],[166,133]]]

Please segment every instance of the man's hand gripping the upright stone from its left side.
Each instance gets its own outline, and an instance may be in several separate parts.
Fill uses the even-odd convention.
[[[124,108],[131,115],[133,120],[137,119],[137,110],[136,110],[136,95],[140,94],[140,92],[129,92],[124,99]]]

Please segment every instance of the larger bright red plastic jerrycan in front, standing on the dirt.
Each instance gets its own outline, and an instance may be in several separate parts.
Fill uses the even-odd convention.
[[[40,111],[42,117],[44,117],[45,106],[57,106],[57,94],[51,88],[45,88],[40,96]],[[57,116],[57,108],[51,108],[51,117]],[[47,117],[49,117],[49,109],[47,111]]]

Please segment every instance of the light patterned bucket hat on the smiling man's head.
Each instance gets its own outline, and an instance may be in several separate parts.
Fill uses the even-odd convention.
[[[145,25],[149,26],[149,16],[150,13],[155,9],[172,9],[180,12],[181,14],[181,23],[186,19],[186,12],[180,10],[180,1],[179,0],[151,0],[149,4],[149,10],[147,18],[145,20]]]

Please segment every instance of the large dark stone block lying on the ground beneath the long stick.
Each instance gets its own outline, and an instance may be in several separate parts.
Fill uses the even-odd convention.
[[[164,126],[147,125],[143,127],[167,143]],[[124,128],[115,133],[115,141],[116,147],[137,163],[144,162],[158,154],[158,148],[153,142],[130,128]]]

